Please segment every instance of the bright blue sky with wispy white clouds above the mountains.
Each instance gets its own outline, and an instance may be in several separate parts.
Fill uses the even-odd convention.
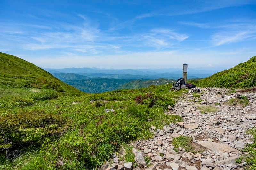
[[[0,6],[0,51],[43,68],[231,68],[256,55],[255,0],[1,0]]]

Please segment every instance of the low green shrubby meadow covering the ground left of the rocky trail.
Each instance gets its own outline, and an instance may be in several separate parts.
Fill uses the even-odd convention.
[[[164,114],[185,92],[170,88],[161,85],[82,96],[39,90],[2,97],[0,169],[98,167],[123,144],[153,137],[151,125],[162,128],[183,121],[178,115]],[[104,111],[110,108],[114,111]],[[22,151],[20,156],[7,158],[14,150]]]

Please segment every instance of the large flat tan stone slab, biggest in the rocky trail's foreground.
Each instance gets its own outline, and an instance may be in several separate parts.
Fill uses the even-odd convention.
[[[219,153],[239,152],[237,149],[232,148],[226,144],[221,144],[221,143],[216,143],[211,141],[198,141],[196,143],[206,147],[209,150],[212,150],[213,152],[219,152]]]

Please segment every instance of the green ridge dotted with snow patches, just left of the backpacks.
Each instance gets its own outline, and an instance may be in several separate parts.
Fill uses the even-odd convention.
[[[124,85],[119,86],[116,88],[117,90],[120,89],[139,89],[139,88],[145,88],[149,87],[150,85],[165,85],[167,83],[172,83],[175,80],[172,79],[165,79],[165,78],[159,78],[156,80],[132,80]]]

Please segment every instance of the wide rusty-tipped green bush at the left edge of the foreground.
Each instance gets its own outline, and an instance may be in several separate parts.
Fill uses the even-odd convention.
[[[0,117],[0,137],[12,147],[40,145],[46,136],[63,134],[69,126],[67,122],[70,121],[63,116],[43,110],[4,114]]]

